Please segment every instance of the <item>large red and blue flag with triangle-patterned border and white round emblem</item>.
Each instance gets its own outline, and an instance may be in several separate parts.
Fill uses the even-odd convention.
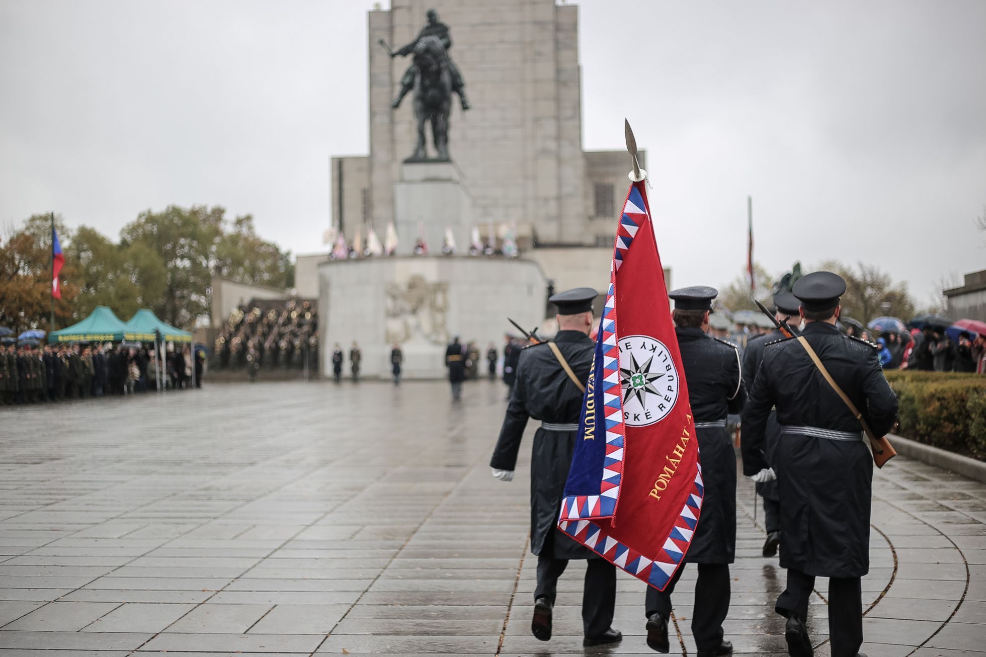
[[[616,226],[558,528],[664,590],[691,544],[702,497],[695,422],[647,192],[643,182],[632,183]]]

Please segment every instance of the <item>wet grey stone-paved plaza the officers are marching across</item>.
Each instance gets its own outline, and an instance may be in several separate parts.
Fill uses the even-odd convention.
[[[656,654],[644,585],[624,574],[622,643],[583,649],[575,562],[554,638],[530,635],[528,459],[512,483],[487,467],[504,391],[214,385],[0,409],[0,655]],[[784,571],[760,556],[745,479],[738,497],[727,638],[786,654]],[[873,520],[864,651],[986,656],[986,484],[897,458]],[[695,653],[693,578],[671,654]]]

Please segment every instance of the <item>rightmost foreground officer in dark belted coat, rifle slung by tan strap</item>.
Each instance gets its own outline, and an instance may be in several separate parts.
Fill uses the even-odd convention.
[[[897,399],[880,370],[877,349],[835,327],[846,282],[828,271],[801,278],[801,302],[810,347],[836,385],[853,401],[877,436],[894,424]],[[788,652],[810,657],[805,619],[815,577],[828,577],[832,657],[855,657],[863,643],[860,578],[870,569],[873,457],[862,427],[797,339],[764,348],[743,412],[743,474],[769,473],[764,458],[767,418],[777,408],[781,436],[774,461],[781,502],[781,566],[787,589],[776,610],[788,619]]]

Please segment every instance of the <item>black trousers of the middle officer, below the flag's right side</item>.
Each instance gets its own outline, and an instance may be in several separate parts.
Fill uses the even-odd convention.
[[[723,621],[730,611],[730,564],[697,563],[698,580],[695,582],[695,609],[691,613],[691,633],[699,652],[711,652],[723,642]],[[671,615],[671,594],[684,564],[669,581],[664,591],[653,586],[647,587],[647,618],[660,614],[669,619]]]

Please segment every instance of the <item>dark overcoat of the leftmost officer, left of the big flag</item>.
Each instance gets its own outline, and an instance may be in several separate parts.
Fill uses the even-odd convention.
[[[559,330],[558,349],[580,381],[589,380],[596,343],[578,330]],[[514,347],[515,349],[518,347]],[[528,417],[554,424],[578,424],[583,394],[568,378],[547,344],[521,351],[517,381],[490,466],[513,471]],[[596,553],[555,529],[578,431],[538,427],[530,455],[530,551],[545,548],[559,559],[595,558]]]

